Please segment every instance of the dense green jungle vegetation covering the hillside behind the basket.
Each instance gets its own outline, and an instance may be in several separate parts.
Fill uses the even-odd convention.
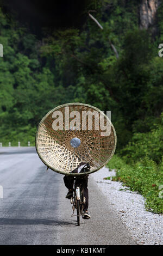
[[[102,1],[82,27],[41,37],[0,10],[0,142],[34,145],[36,127],[52,108],[83,102],[111,111],[117,133],[109,162],[115,180],[163,211],[163,3],[151,26],[140,29],[141,1]],[[0,5],[1,6],[1,5]],[[118,58],[112,50],[116,47]]]

